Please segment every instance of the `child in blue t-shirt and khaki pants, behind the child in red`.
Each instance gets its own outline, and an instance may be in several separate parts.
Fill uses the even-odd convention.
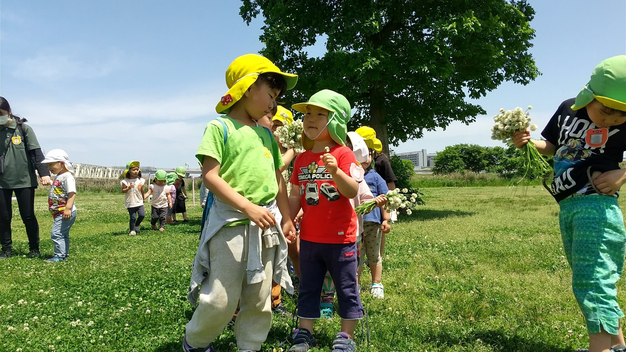
[[[367,140],[366,144],[369,143]],[[381,204],[386,203],[385,195],[389,192],[385,180],[382,179],[372,165],[372,155],[374,153],[373,146],[369,147],[369,155],[367,161],[362,163],[366,169],[365,182],[372,195],[376,197],[377,207],[374,208],[369,214],[363,215],[363,249],[367,256],[367,264],[372,273],[372,286],[369,289],[369,293],[374,298],[385,298],[384,287],[382,286],[382,256],[381,256],[381,241],[382,234],[388,234],[391,230],[389,224],[391,214],[386,210],[380,208]]]

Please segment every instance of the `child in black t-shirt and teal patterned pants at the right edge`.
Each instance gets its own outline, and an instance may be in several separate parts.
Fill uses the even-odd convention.
[[[572,289],[587,323],[589,351],[626,351],[615,284],[626,254],[626,230],[617,204],[626,182],[626,55],[602,61],[576,98],[561,103],[533,140],[554,156],[552,195],[560,207],[563,249]],[[515,132],[521,148],[530,132]]]

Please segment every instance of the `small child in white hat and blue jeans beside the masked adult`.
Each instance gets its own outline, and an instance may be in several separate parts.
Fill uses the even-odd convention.
[[[76,181],[74,168],[69,163],[68,153],[53,149],[46,154],[42,163],[56,178],[48,194],[48,207],[53,217],[50,237],[54,244],[54,256],[46,262],[60,262],[69,256],[69,229],[76,221]]]

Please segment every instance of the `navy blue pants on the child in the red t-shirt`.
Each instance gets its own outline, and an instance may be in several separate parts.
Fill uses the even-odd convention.
[[[304,319],[320,318],[319,298],[326,271],[331,272],[337,289],[339,316],[342,319],[360,319],[363,306],[356,285],[356,242],[345,244],[317,243],[300,240],[300,293],[298,316]]]

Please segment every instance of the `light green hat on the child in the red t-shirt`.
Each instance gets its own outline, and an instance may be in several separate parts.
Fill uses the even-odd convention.
[[[331,114],[328,116],[328,132],[331,133],[332,140],[339,145],[346,145],[347,124],[350,121],[351,106],[345,96],[332,90],[321,90],[312,95],[306,103],[297,103],[291,107],[295,111],[306,113],[307,105],[319,106]],[[313,147],[313,141],[302,132],[302,147],[309,150]]]

